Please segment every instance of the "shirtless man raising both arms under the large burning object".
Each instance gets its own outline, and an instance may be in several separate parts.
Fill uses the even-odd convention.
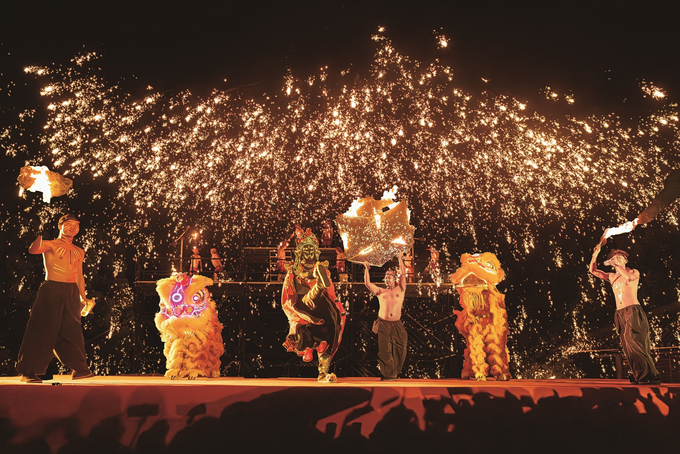
[[[406,343],[408,335],[401,323],[401,307],[406,293],[406,267],[399,253],[399,283],[396,273],[389,270],[385,273],[387,288],[380,288],[371,283],[368,273],[370,264],[364,262],[364,283],[378,297],[380,309],[378,319],[373,324],[373,332],[378,334],[378,367],[382,380],[396,380],[406,359]]]

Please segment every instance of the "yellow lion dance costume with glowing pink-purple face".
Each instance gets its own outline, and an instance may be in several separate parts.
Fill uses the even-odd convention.
[[[177,274],[156,283],[161,310],[156,327],[165,343],[166,377],[171,379],[220,376],[224,353],[222,324],[206,288],[210,278]]]

